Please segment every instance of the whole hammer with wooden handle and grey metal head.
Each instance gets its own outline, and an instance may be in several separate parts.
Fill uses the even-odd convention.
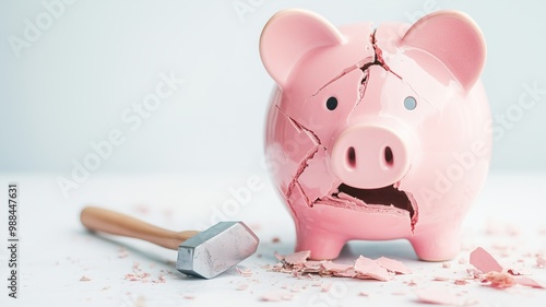
[[[242,222],[219,222],[201,233],[177,233],[96,206],[84,208],[80,220],[90,231],[143,239],[178,250],[176,269],[203,279],[212,279],[247,259],[260,241]]]

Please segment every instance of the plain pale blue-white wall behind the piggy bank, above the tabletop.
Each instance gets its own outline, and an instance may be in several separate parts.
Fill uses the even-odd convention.
[[[491,170],[546,170],[546,94],[530,109],[518,106],[524,84],[546,88],[541,1],[80,0],[22,49],[10,37],[24,39],[25,20],[37,25],[47,10],[41,1],[0,3],[0,172],[70,178],[73,160],[81,163],[93,152],[90,142],[107,140],[114,129],[126,142],[93,174],[263,170],[273,81],[258,42],[269,17],[292,7],[334,24],[466,12],[488,44],[483,82],[492,114],[512,119],[494,118]],[[123,111],[170,71],[183,85],[131,130]]]

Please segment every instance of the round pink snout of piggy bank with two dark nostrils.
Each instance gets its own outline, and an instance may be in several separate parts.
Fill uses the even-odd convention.
[[[408,172],[415,138],[402,123],[349,126],[334,141],[330,163],[345,185],[377,189],[401,180]]]

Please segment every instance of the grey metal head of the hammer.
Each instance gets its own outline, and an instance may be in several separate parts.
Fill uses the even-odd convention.
[[[242,222],[219,222],[178,247],[176,269],[212,279],[256,252],[258,237]]]

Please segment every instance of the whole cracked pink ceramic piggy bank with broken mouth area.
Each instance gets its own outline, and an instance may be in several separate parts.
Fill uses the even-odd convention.
[[[419,259],[455,257],[491,151],[476,24],[439,11],[336,27],[287,10],[264,26],[260,56],[277,85],[266,158],[296,250],[333,259],[347,240],[405,238]]]

